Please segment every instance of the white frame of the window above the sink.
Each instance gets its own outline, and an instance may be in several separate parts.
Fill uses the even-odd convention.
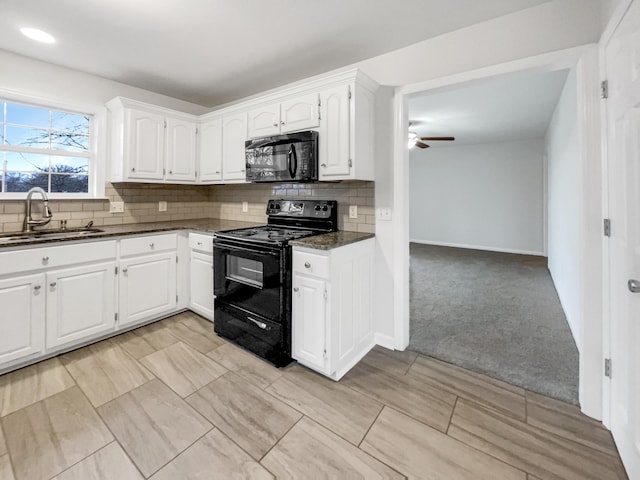
[[[106,163],[106,107],[100,105],[79,104],[47,97],[23,94],[0,88],[0,99],[9,103],[19,103],[43,110],[56,110],[78,115],[90,115],[89,122],[89,168],[87,193],[62,193],[52,192],[47,196],[50,200],[74,200],[74,199],[104,199],[105,197],[105,163]],[[32,147],[9,146],[3,151],[22,151],[28,153],[46,154],[45,149]],[[36,151],[37,150],[37,151]],[[27,192],[0,192],[0,202],[3,200],[24,200]]]

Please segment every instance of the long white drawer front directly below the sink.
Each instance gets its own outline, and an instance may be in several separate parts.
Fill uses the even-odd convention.
[[[116,258],[115,240],[0,253],[0,275]]]

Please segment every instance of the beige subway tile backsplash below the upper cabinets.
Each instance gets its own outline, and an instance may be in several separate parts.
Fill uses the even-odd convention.
[[[118,225],[166,220],[220,218],[266,222],[269,198],[312,197],[338,201],[341,230],[374,232],[374,183],[345,181],[335,183],[161,185],[108,183],[102,200],[51,200],[53,220],[46,227],[57,227],[67,220],[69,228],[86,225]],[[124,202],[123,213],[110,213],[109,202]],[[167,211],[158,211],[158,202],[167,202]],[[248,211],[242,211],[242,203]],[[35,202],[34,207],[40,202]],[[349,218],[349,205],[358,206],[358,218]],[[38,215],[39,213],[36,213]],[[0,201],[0,231],[22,230],[24,201]]]

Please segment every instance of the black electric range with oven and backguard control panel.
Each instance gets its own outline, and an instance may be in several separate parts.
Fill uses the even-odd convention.
[[[216,232],[214,330],[277,366],[291,362],[289,241],[337,230],[335,200],[269,200],[267,225]]]

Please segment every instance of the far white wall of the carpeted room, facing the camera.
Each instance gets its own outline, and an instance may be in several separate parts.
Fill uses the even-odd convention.
[[[543,139],[410,153],[411,241],[544,255]]]

